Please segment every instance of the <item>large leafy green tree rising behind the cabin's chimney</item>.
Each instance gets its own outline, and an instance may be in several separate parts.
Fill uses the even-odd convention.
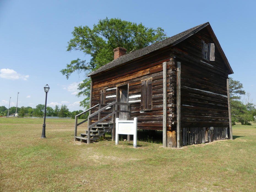
[[[75,27],[72,35],[73,38],[68,42],[67,51],[82,51],[85,55],[91,56],[91,60],[86,62],[77,58],[67,64],[66,68],[61,70],[67,79],[75,71],[88,74],[112,61],[114,59],[113,49],[116,47],[123,47],[129,53],[167,38],[160,27],[147,28],[141,23],[122,21],[118,18],[99,20],[92,29],[88,26]],[[80,106],[85,108],[89,104],[90,82],[91,80],[86,78],[78,85],[80,92],[77,96],[85,96]]]

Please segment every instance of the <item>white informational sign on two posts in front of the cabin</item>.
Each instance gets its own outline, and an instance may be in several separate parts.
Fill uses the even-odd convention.
[[[133,146],[137,147],[137,117],[134,117],[133,121],[116,118],[116,145],[119,142],[119,134],[133,135]]]

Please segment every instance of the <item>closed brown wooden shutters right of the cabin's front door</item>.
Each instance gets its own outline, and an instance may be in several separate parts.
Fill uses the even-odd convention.
[[[152,79],[141,81],[141,111],[152,109]]]

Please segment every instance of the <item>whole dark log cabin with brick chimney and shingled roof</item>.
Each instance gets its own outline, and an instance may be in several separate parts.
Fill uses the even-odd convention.
[[[116,117],[137,117],[138,129],[163,131],[164,147],[233,139],[233,70],[209,22],[127,54],[113,51],[113,61],[88,75],[91,129],[112,123],[113,133]],[[91,138],[89,127],[87,133]]]

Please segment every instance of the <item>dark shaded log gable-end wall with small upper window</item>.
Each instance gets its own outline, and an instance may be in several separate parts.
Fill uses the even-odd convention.
[[[201,40],[214,43],[203,29],[173,48],[181,62],[181,127],[228,127],[227,67],[217,49],[215,61],[202,58]]]

